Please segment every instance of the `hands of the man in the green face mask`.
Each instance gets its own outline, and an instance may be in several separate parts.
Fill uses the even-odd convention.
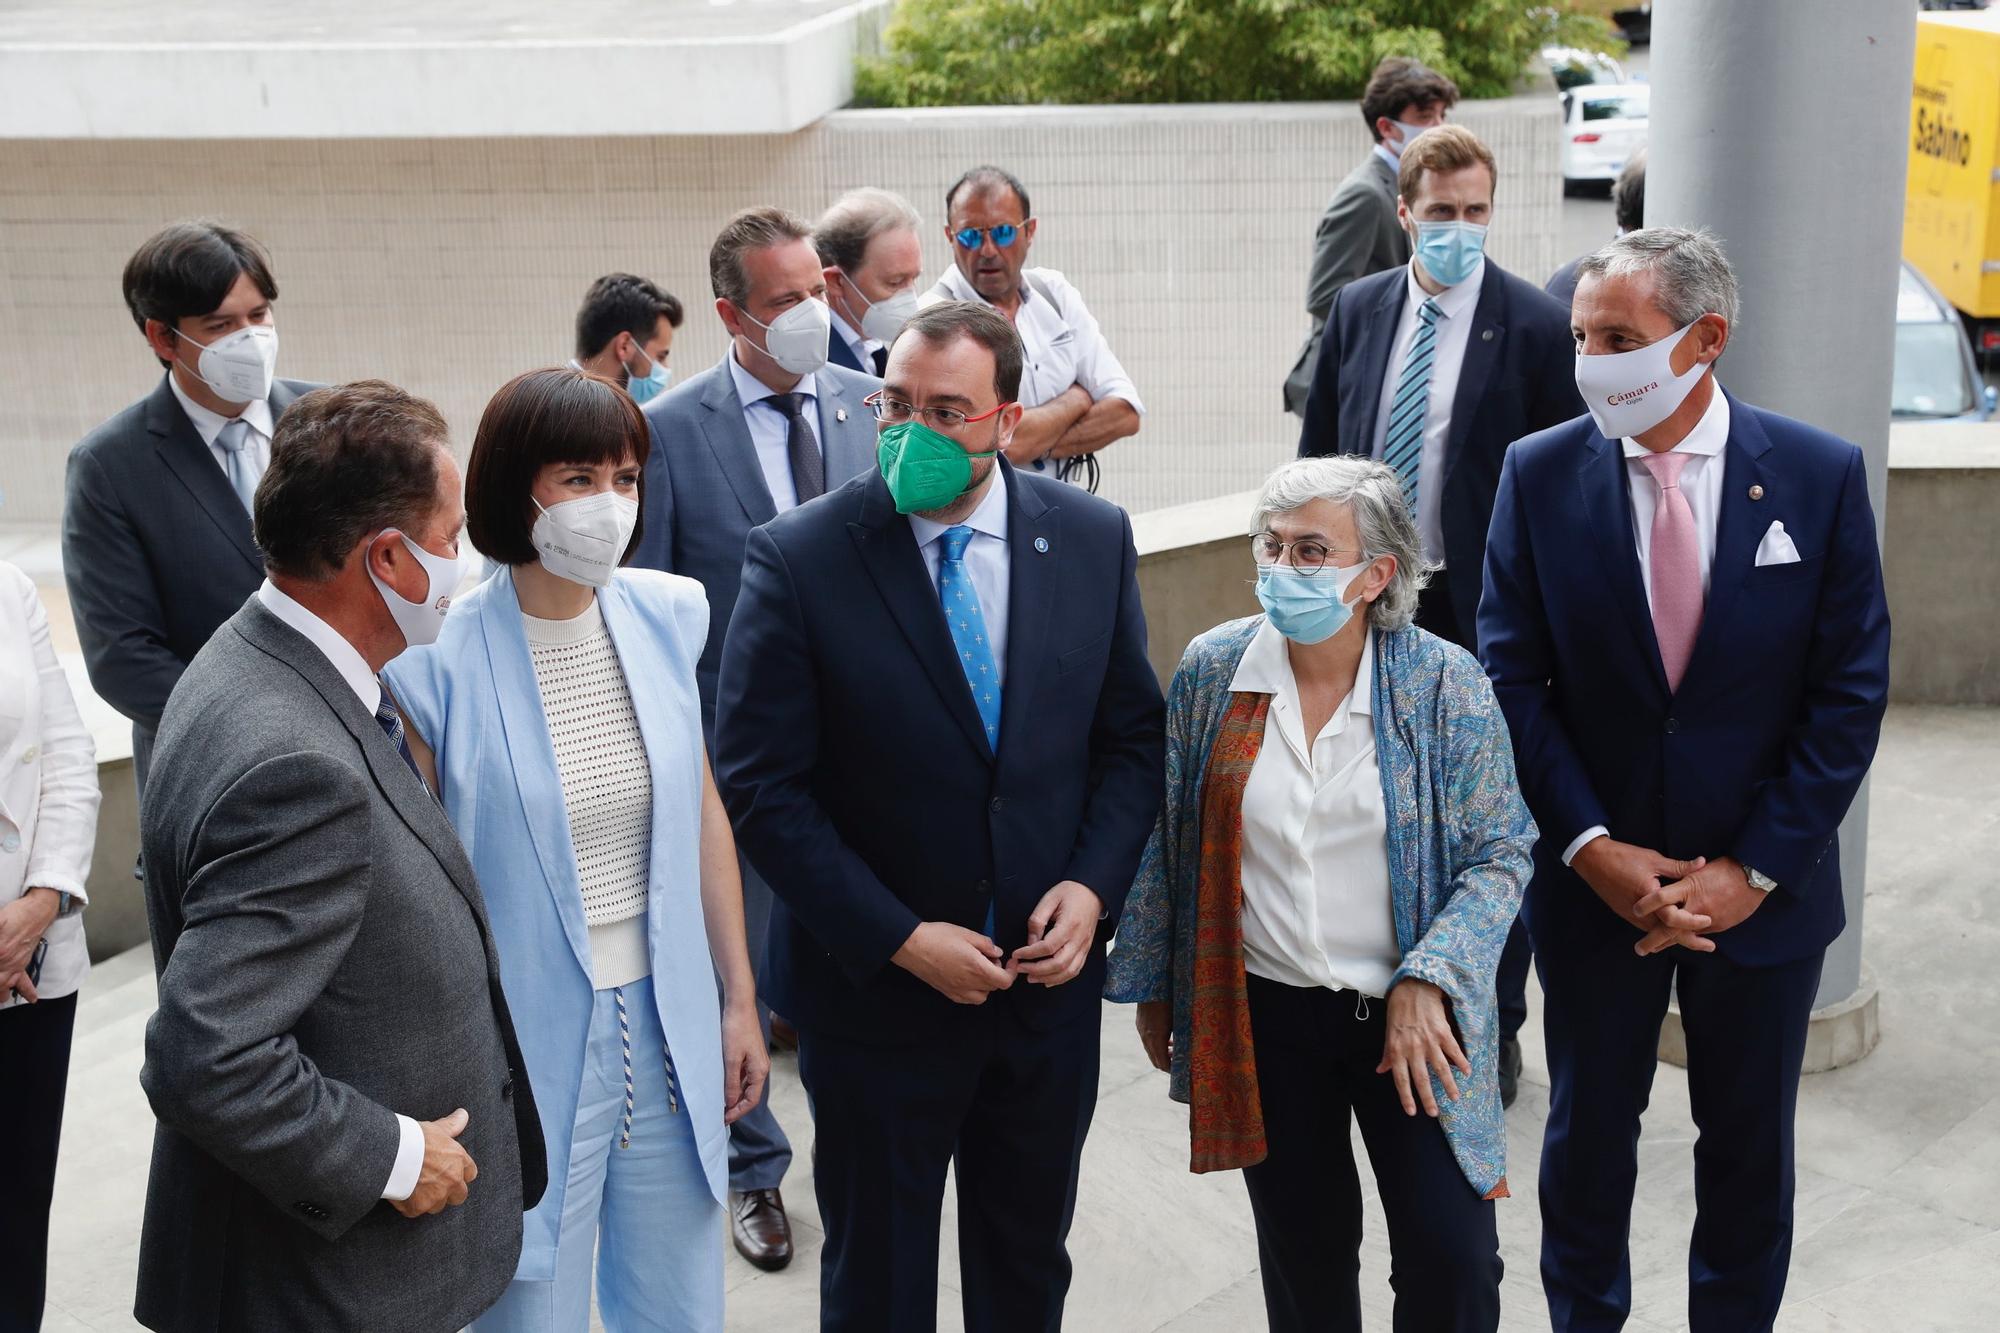
[[[922,923],[890,961],[958,1005],[984,1005],[1016,977],[1042,987],[1074,981],[1090,961],[1102,913],[1098,895],[1066,879],[1036,903],[1028,943],[1006,963],[1000,945],[950,921]]]

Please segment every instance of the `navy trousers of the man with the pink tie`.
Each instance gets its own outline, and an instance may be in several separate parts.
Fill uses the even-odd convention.
[[[1686,949],[1640,959],[1624,943],[1536,951],[1550,1073],[1542,1287],[1558,1333],[1620,1329],[1632,1309],[1638,1129],[1670,991],[1698,1129],[1688,1325],[1772,1327],[1792,1261],[1792,1119],[1822,957],[1740,967]]]

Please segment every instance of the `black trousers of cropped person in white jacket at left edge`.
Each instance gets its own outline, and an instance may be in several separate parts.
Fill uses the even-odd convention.
[[[48,1299],[48,1205],[56,1195],[62,1093],[76,997],[0,1011],[0,1333],[34,1333]]]

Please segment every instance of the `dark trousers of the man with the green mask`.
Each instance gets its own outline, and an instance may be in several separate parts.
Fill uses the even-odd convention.
[[[1016,983],[1026,985],[1026,983]],[[946,1167],[966,1333],[1056,1333],[1098,1103],[1098,1013],[1034,1033],[996,997],[950,1041],[798,1035],[818,1133],[820,1329],[930,1333]]]

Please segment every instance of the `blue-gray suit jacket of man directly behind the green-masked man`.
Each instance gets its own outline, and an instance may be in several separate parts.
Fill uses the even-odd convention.
[[[828,364],[816,372],[820,454],[826,488],[874,468],[874,414],[862,398],[882,380]],[[700,580],[708,592],[708,644],[694,677],[702,691],[702,735],[714,753],[716,675],[722,636],[736,610],[750,528],[778,516],[744,424],[728,352],[686,384],[646,404],[652,454],[646,458],[646,524],[632,564]]]

